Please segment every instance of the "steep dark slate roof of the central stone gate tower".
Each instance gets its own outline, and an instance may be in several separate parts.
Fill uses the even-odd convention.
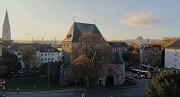
[[[83,33],[88,33],[88,32],[101,35],[101,32],[98,30],[98,28],[96,27],[95,24],[74,22],[74,24],[71,26],[71,28],[70,28],[66,38],[64,39],[64,41],[77,42],[79,37]]]

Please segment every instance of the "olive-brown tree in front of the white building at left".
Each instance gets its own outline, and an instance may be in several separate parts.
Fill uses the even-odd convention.
[[[22,52],[23,61],[26,68],[36,66],[36,49],[32,46],[21,46],[19,50]]]

